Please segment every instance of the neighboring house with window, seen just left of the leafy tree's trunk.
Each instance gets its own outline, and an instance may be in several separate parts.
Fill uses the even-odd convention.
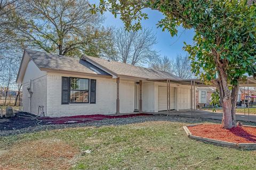
[[[210,106],[211,95],[216,91],[215,87],[196,87],[196,107]]]

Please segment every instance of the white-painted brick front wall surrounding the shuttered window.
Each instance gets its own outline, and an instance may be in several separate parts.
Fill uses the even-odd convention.
[[[71,116],[89,114],[116,113],[116,80],[95,78],[96,104],[69,104],[61,105],[61,76],[47,75],[47,116]],[[68,75],[63,75],[68,76]],[[79,75],[73,77],[81,77]],[[134,110],[134,82],[120,81],[119,83],[120,112],[131,113]]]

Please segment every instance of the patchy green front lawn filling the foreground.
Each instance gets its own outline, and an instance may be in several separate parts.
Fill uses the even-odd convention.
[[[155,121],[2,137],[0,169],[255,169],[256,151],[189,139],[183,125]]]

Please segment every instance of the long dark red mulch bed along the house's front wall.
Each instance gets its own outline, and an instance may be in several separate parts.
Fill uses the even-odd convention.
[[[149,116],[151,114],[139,113],[129,115],[78,115],[78,116],[63,116],[63,117],[38,117],[43,124],[69,124],[69,123],[84,123],[91,121],[100,121],[109,118],[126,118],[134,116]]]

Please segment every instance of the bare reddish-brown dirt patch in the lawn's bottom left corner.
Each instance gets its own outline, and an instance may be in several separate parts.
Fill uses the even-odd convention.
[[[59,139],[23,142],[2,153],[0,169],[69,169],[77,153]]]

